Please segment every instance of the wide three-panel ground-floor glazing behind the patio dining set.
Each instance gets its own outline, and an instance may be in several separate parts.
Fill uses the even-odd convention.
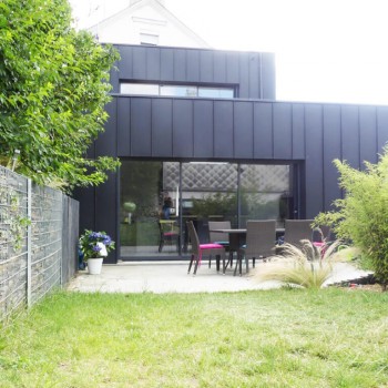
[[[247,219],[276,219],[282,227],[292,218],[292,172],[289,165],[122,161],[121,258],[186,255],[186,221],[201,242],[208,221],[245,227]]]

